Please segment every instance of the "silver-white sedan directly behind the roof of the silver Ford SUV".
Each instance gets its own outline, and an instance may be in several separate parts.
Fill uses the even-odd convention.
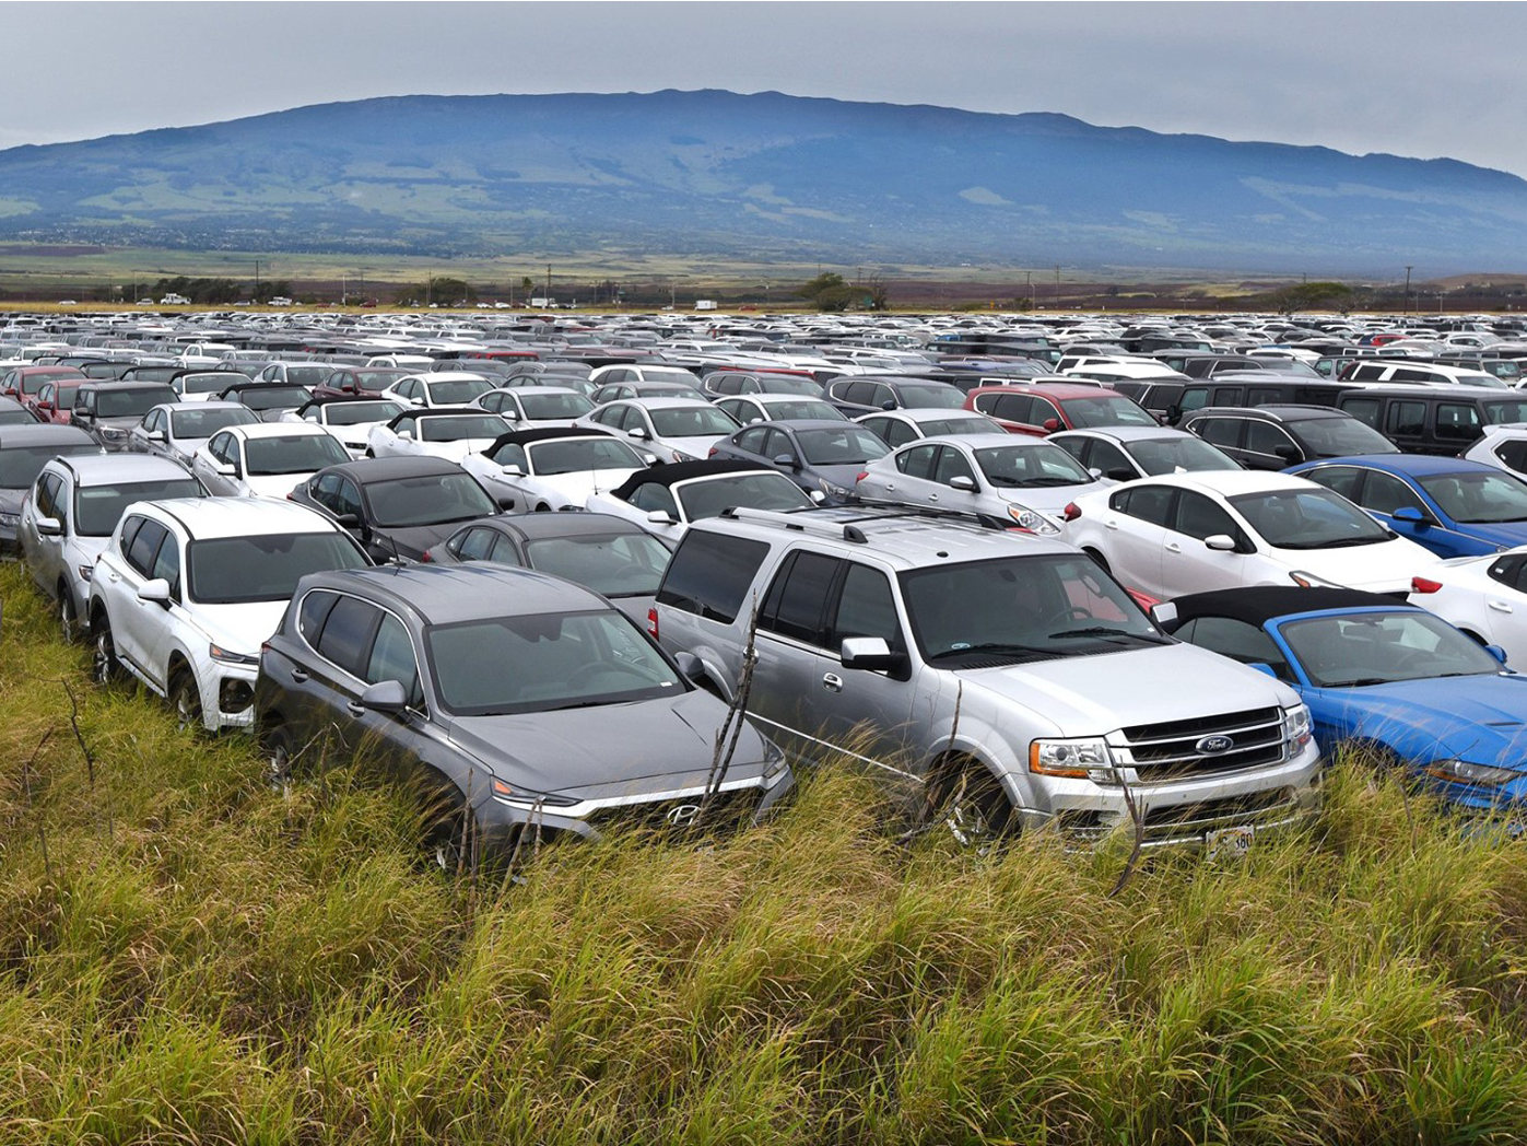
[[[1060,446],[997,431],[913,442],[866,463],[854,492],[860,501],[983,513],[1054,535],[1067,504],[1110,484]]]

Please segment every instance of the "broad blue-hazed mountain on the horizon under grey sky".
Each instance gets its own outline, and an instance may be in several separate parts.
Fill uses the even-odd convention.
[[[0,151],[0,237],[1435,275],[1527,263],[1527,182],[774,92],[402,96]]]

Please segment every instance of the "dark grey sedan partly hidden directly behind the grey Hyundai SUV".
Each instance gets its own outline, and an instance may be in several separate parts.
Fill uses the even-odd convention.
[[[641,526],[612,513],[501,513],[463,526],[423,561],[521,565],[600,593],[646,623],[672,550]]]

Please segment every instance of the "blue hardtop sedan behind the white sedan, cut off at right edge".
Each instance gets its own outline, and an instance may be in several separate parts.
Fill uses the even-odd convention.
[[[1356,501],[1382,524],[1441,558],[1527,544],[1527,481],[1455,457],[1370,454],[1306,461],[1296,474]]]

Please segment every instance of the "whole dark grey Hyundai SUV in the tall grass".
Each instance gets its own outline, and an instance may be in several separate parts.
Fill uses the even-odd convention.
[[[794,785],[744,724],[712,775],[727,709],[591,590],[486,564],[319,575],[261,659],[255,709],[275,775],[331,736],[420,785],[441,866],[538,839],[765,816]],[[472,840],[463,854],[458,840]]]

